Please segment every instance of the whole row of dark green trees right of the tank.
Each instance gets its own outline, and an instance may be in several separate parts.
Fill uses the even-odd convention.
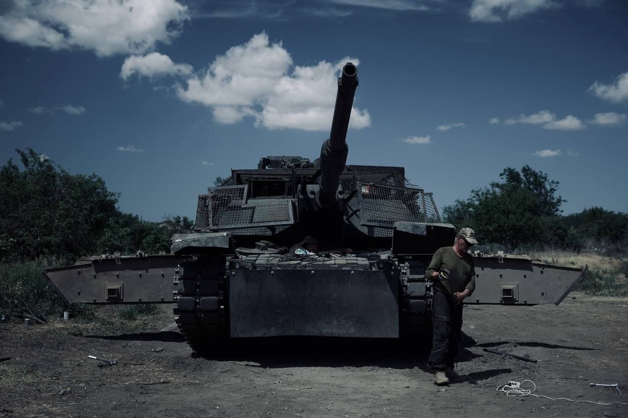
[[[628,214],[593,206],[562,215],[559,182],[526,165],[443,208],[445,222],[474,228],[479,242],[514,251],[547,248],[626,254]]]

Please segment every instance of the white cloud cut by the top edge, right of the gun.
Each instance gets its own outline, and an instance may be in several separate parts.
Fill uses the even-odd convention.
[[[474,22],[502,22],[542,9],[558,7],[553,0],[474,0],[468,15]]]

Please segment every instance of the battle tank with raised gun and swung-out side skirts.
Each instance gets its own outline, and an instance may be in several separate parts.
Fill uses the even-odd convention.
[[[195,355],[222,338],[430,338],[425,269],[456,228],[403,167],[346,164],[357,87],[347,63],[319,158],[232,170],[198,196],[195,233],[174,235],[171,254],[87,257],[45,277],[67,303],[174,303]],[[467,304],[559,304],[580,277],[526,255],[473,255]]]

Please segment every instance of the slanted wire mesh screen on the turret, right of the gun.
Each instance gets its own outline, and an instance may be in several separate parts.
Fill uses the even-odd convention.
[[[398,221],[440,223],[431,194],[422,189],[362,183],[358,187],[362,225],[393,227]]]

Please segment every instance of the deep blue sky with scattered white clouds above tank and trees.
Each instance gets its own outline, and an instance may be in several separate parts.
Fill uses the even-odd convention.
[[[626,45],[621,0],[4,1],[0,163],[31,147],[193,218],[231,168],[317,158],[352,61],[349,164],[440,208],[529,164],[564,213],[628,212]]]

